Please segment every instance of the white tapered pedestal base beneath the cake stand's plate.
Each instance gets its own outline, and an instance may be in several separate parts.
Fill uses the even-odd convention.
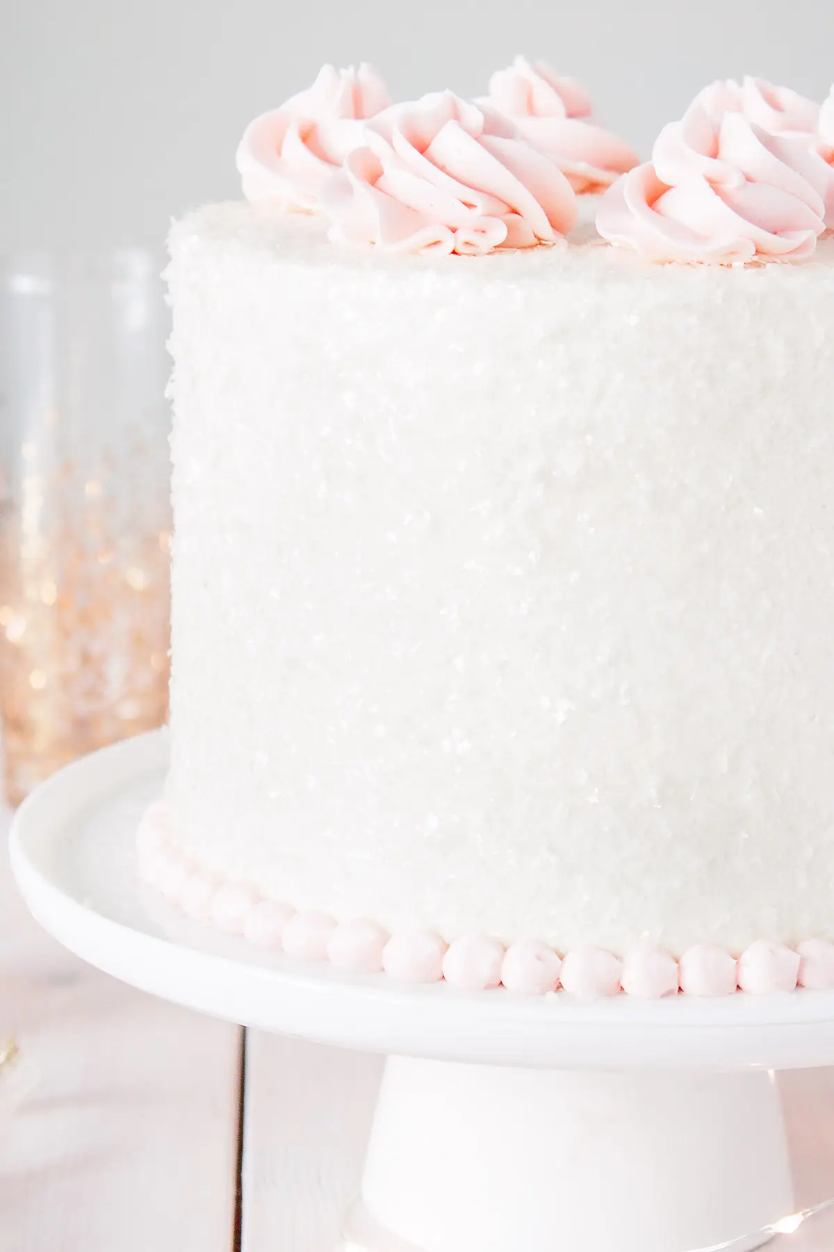
[[[771,1073],[548,1072],[391,1057],[345,1246],[743,1252],[791,1209]]]

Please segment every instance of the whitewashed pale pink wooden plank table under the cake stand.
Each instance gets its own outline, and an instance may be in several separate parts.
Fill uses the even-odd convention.
[[[36,1080],[0,1103],[0,1249],[335,1252],[379,1059],[244,1042],[83,965],[19,901],[6,828],[0,814],[0,1037]],[[834,1194],[834,1069],[781,1085],[804,1208]],[[783,1242],[830,1252],[834,1217]]]

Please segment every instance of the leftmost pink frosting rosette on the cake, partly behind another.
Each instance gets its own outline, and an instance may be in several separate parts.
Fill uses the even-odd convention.
[[[236,156],[245,198],[314,213],[334,169],[361,143],[364,119],[389,104],[373,66],[325,65],[313,86],[246,126]]]

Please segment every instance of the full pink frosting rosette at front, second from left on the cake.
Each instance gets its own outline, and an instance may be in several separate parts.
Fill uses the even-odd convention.
[[[441,254],[551,244],[576,219],[553,162],[506,118],[451,91],[366,124],[323,208],[334,243]]]

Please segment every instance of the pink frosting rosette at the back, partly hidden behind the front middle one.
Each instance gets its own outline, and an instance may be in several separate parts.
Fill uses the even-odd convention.
[[[633,148],[591,120],[590,96],[579,83],[541,61],[516,56],[509,69],[493,74],[484,103],[510,118],[578,193],[604,190],[638,164]]]

